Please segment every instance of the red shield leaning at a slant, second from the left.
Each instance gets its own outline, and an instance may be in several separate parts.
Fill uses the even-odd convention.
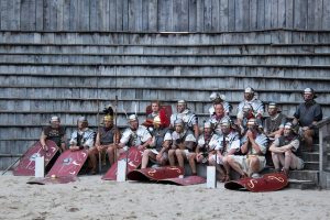
[[[87,150],[65,151],[56,160],[54,166],[48,172],[46,177],[65,177],[65,176],[77,176],[82,165],[85,164],[88,157]]]

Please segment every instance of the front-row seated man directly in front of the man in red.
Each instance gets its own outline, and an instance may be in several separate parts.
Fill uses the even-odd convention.
[[[165,116],[166,117],[166,116]],[[162,116],[156,116],[153,119],[154,128],[151,130],[152,141],[151,148],[143,152],[141,168],[146,168],[148,160],[158,165],[165,165],[168,162],[168,147],[172,141],[168,128],[165,127]]]

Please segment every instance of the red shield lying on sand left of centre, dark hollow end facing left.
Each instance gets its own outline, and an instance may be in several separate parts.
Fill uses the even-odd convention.
[[[131,180],[147,182],[176,178],[179,175],[184,175],[184,168],[179,166],[163,166],[132,170],[128,174],[128,178]]]

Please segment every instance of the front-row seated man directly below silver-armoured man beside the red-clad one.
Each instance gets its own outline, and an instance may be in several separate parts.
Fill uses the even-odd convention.
[[[195,163],[195,144],[196,139],[190,130],[185,128],[182,119],[174,122],[175,131],[172,133],[172,148],[168,151],[168,161],[170,166],[175,166],[175,158],[178,165],[185,167],[185,158],[188,160],[191,175],[197,175]]]

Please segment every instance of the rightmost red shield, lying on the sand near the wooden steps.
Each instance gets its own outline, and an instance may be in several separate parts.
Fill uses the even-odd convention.
[[[233,190],[248,189],[250,191],[275,191],[287,186],[287,177],[282,173],[265,174],[261,178],[241,178],[228,182],[224,188]]]

